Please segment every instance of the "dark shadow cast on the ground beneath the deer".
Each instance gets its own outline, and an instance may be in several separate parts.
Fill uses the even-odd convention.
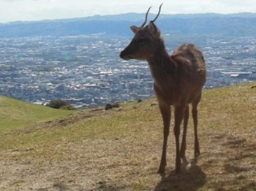
[[[205,179],[206,175],[197,165],[196,158],[190,162],[190,166],[188,160],[183,158],[182,172],[180,174],[171,172],[168,176],[162,176],[154,191],[198,190],[204,186]]]

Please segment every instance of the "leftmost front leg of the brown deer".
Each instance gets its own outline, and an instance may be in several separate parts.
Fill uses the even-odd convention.
[[[170,105],[167,105],[165,103],[159,103],[159,109],[162,114],[163,118],[163,151],[162,151],[162,157],[161,162],[159,165],[158,173],[164,174],[165,173],[165,166],[166,166],[166,149],[167,149],[167,142],[168,142],[168,135],[170,133],[170,120],[171,120],[171,107]]]

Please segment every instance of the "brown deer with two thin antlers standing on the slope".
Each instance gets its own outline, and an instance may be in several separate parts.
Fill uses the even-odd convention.
[[[161,4],[162,6],[162,4]],[[148,11],[145,22],[140,27],[131,26],[134,38],[120,53],[122,59],[147,60],[154,79],[154,91],[159,102],[159,109],[163,118],[163,152],[158,173],[164,174],[166,166],[166,148],[170,132],[171,106],[174,107],[174,134],[176,141],[175,171],[181,171],[181,158],[185,157],[186,132],[189,118],[189,103],[192,105],[192,116],[195,128],[195,157],[200,155],[197,134],[197,106],[201,100],[202,88],[206,80],[206,66],[204,56],[195,45],[181,45],[171,56],[164,45],[161,32],[151,20],[147,26]],[[145,26],[145,27],[144,27]],[[184,130],[180,147],[180,125],[183,121]]]

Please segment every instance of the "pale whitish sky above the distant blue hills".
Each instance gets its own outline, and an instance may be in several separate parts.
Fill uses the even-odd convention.
[[[0,0],[0,23],[120,13],[256,13],[255,0]]]

